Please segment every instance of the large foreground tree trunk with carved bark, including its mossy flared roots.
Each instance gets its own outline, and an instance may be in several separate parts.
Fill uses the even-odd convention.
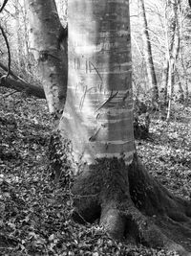
[[[100,219],[114,238],[188,256],[190,201],[148,175],[135,151],[129,1],[69,0],[68,11],[69,84],[59,128],[76,175],[74,220]]]

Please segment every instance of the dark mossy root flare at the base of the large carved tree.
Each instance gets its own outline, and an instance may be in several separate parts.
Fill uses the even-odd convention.
[[[115,239],[191,255],[191,202],[173,196],[138,163],[98,160],[74,184],[76,221],[96,219]]]

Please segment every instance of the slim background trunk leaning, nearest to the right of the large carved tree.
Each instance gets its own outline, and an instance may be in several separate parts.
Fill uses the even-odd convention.
[[[146,13],[144,8],[144,0],[139,0],[139,19],[142,24],[142,41],[143,41],[143,52],[145,63],[147,67],[147,75],[150,86],[153,90],[153,100],[158,101],[159,98],[159,89],[158,89],[158,82],[155,72],[155,66],[153,62],[153,55],[151,49],[151,41],[148,32],[148,24],[146,19]]]

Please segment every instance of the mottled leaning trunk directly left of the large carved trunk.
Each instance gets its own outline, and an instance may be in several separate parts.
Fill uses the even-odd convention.
[[[28,0],[30,41],[32,54],[38,61],[49,111],[59,120],[63,111],[67,90],[67,58],[58,49],[61,28],[56,6],[52,0]]]

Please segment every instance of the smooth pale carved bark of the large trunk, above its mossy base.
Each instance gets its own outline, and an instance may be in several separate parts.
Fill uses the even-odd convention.
[[[77,165],[104,157],[133,159],[128,9],[123,0],[69,2],[69,81],[61,130],[72,141]]]

